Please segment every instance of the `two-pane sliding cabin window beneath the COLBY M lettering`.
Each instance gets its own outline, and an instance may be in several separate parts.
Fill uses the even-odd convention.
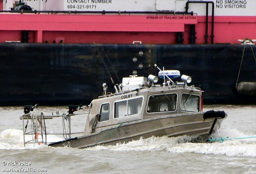
[[[129,99],[115,103],[115,118],[140,114],[143,98]]]

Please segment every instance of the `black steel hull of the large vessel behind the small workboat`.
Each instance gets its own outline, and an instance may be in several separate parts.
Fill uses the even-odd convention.
[[[236,81],[244,45],[98,44],[122,77],[157,74],[157,64],[177,69],[201,85],[204,103],[256,103],[255,96],[241,95]],[[255,54],[256,45],[252,45]],[[143,55],[139,55],[143,51]],[[116,83],[118,80],[102,52]],[[136,57],[137,62],[132,59]],[[0,105],[67,105],[90,103],[102,95],[102,83],[112,83],[94,44],[0,43]],[[139,68],[139,64],[143,68]],[[175,81],[175,79],[174,79]],[[245,46],[238,82],[256,82],[256,63]]]

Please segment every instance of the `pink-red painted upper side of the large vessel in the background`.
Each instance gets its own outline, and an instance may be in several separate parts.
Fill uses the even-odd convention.
[[[205,42],[205,16],[170,19],[151,15],[45,15],[1,14],[0,43],[21,40],[21,30],[28,30],[29,43],[106,43],[176,44],[182,32],[189,44],[189,27],[195,24],[196,43]],[[169,16],[173,17],[173,16]],[[178,16],[177,16],[178,17]],[[153,18],[153,19],[152,19]],[[211,35],[209,17],[208,35]],[[255,16],[215,16],[214,43],[239,43],[237,39],[256,38]],[[211,37],[208,37],[210,43]]]

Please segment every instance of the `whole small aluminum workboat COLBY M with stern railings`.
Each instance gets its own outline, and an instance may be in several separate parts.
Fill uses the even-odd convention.
[[[157,65],[155,65],[157,67]],[[115,145],[137,140],[140,137],[151,136],[182,136],[188,135],[206,141],[209,136],[220,128],[220,124],[227,117],[224,111],[203,110],[202,90],[194,86],[188,86],[191,77],[182,75],[181,80],[173,82],[172,79],[180,77],[178,70],[161,70],[158,77],[161,84],[156,84],[158,77],[149,75],[146,77],[130,76],[123,78],[119,85],[115,85],[115,93],[107,93],[108,87],[103,83],[103,96],[92,100],[88,114],[85,116],[84,134],[71,138],[69,130],[63,134],[68,137],[59,142],[46,142],[46,128],[44,119],[63,117],[70,119],[77,109],[82,106],[69,106],[69,114],[57,116],[36,115],[34,106],[24,107],[23,120],[25,134],[35,134],[33,143],[45,143],[53,147],[86,148],[99,144]],[[25,111],[25,109],[27,109]],[[33,130],[26,132],[24,121],[31,119]],[[40,133],[40,136],[38,136]],[[25,142],[24,146],[28,142]]]

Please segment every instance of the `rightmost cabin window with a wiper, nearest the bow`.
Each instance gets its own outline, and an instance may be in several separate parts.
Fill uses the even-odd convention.
[[[197,95],[182,94],[180,110],[188,111],[188,112],[198,112],[199,111],[199,103],[200,103],[199,99],[200,99],[200,97]]]

